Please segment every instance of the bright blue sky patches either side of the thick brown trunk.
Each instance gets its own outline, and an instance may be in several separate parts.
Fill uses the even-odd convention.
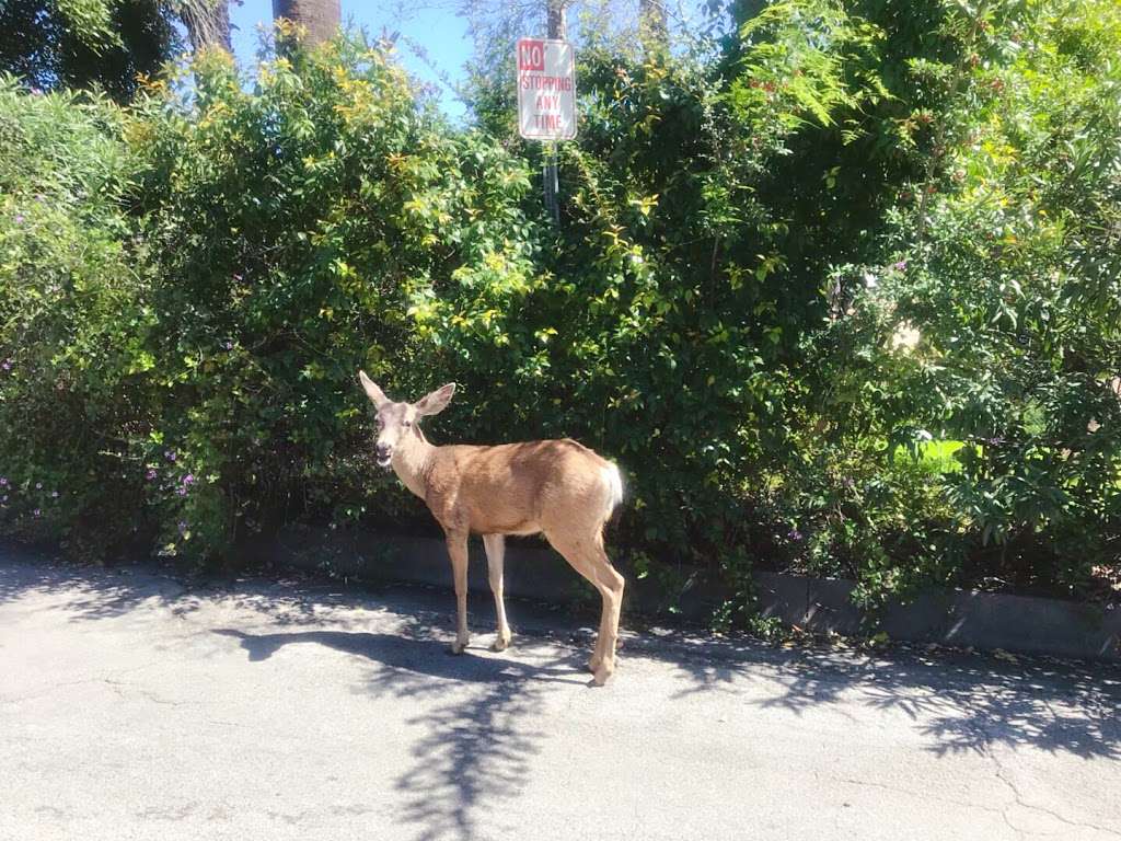
[[[463,18],[446,10],[424,8],[421,2],[413,7],[396,0],[343,0],[343,21],[365,27],[373,35],[400,31],[398,55],[409,73],[426,82],[433,82],[441,90],[441,105],[450,117],[465,113],[463,103],[446,90],[439,75],[454,77],[471,57],[471,40]],[[230,3],[230,22],[233,30],[233,52],[245,66],[256,62],[258,35],[261,26],[271,26],[271,0],[244,0],[241,6]],[[419,45],[427,55],[421,59],[409,44]]]

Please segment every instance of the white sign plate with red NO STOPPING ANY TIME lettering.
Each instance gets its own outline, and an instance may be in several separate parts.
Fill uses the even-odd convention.
[[[576,137],[576,59],[568,41],[518,41],[518,133],[527,140]]]

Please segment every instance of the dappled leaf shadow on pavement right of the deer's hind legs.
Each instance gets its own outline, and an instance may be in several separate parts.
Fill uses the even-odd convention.
[[[1121,667],[1049,657],[927,651],[898,645],[880,653],[825,646],[776,648],[715,640],[675,651],[673,643],[637,646],[688,678],[678,696],[736,691],[767,667],[768,697],[752,701],[795,714],[840,701],[901,712],[937,755],[993,745],[1053,754],[1121,758]]]

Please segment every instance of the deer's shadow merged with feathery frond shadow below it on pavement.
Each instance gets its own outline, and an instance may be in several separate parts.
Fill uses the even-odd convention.
[[[214,631],[241,643],[250,660],[271,657],[284,646],[316,644],[354,655],[379,668],[365,688],[374,696],[425,699],[425,710],[406,721],[416,727],[415,761],[397,779],[405,796],[397,815],[417,831],[418,841],[478,837],[476,819],[488,822],[516,797],[529,776],[529,758],[547,733],[529,726],[539,721],[555,691],[567,684],[583,691],[587,675],[576,654],[556,657],[553,646],[525,640],[518,659],[507,656],[453,656],[446,640],[414,627],[405,635],[308,630],[247,634],[233,628]],[[450,686],[448,682],[461,684]],[[524,828],[511,825],[511,835]]]

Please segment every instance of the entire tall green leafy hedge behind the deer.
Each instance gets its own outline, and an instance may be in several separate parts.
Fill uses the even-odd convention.
[[[760,562],[1086,592],[1121,530],[1115,9],[732,9],[684,52],[587,39],[559,229],[509,63],[470,131],[350,39],[128,112],[7,83],[6,528],[215,558],[427,521],[362,367],[456,381],[437,441],[617,459],[614,543],[670,595],[708,569],[743,607]]]

